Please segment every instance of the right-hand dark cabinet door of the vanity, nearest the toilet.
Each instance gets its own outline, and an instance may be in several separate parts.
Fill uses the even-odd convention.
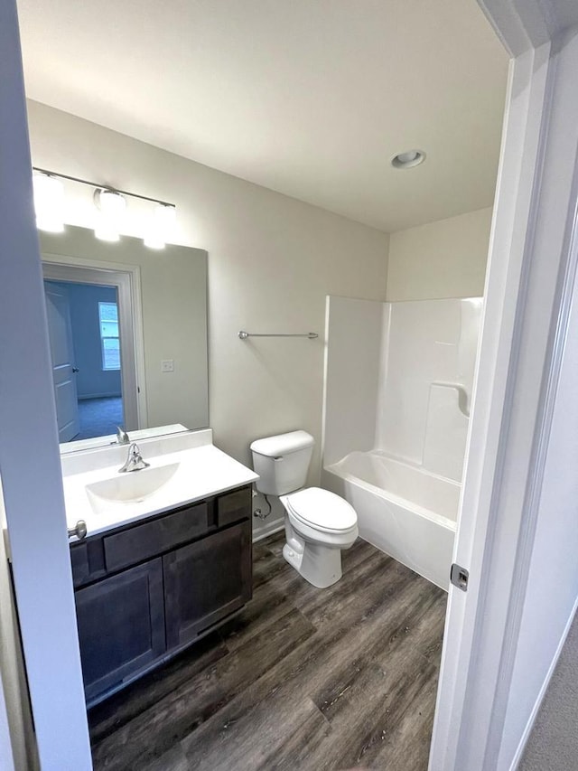
[[[251,598],[251,523],[229,527],[163,557],[169,648],[194,640]]]

